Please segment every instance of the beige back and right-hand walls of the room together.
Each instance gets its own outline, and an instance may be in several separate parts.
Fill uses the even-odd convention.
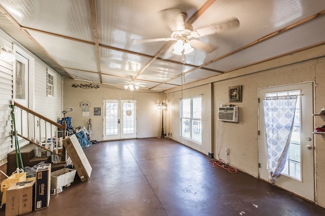
[[[146,93],[135,91],[137,100],[138,138],[160,136],[161,111],[156,110],[156,101],[166,98],[168,110],[164,113],[165,133],[172,130],[172,138],[193,149],[208,154],[217,152],[220,158],[230,165],[254,177],[258,177],[258,88],[314,81],[314,111],[325,107],[325,45],[287,55],[268,62],[247,66],[220,76],[197,83],[183,85],[183,90],[175,88],[164,93]],[[74,107],[72,117],[74,126],[86,126],[91,118],[92,139],[102,140],[102,116],[93,116],[93,107],[103,107],[103,99],[132,99],[129,91],[101,86],[100,89],[73,88],[72,84],[80,82],[64,79],[63,110]],[[82,82],[85,83],[85,82]],[[242,85],[242,102],[239,106],[239,123],[225,123],[217,120],[217,108],[220,104],[229,105],[228,90],[230,86]],[[202,95],[203,103],[203,145],[198,145],[180,137],[179,100],[181,97]],[[91,103],[90,117],[82,117],[79,103],[87,100]],[[102,108],[103,109],[103,108]],[[324,117],[314,118],[314,125],[325,125]],[[311,128],[313,130],[313,128]],[[315,146],[315,182],[317,204],[325,207],[325,138],[314,135]],[[224,149],[230,149],[229,158]],[[219,150],[219,151],[218,151]]]

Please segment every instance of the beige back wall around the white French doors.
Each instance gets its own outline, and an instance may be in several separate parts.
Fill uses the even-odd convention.
[[[63,111],[68,107],[73,107],[73,113],[66,116],[72,117],[73,127],[85,126],[91,119],[91,139],[103,140],[103,118],[104,118],[104,99],[136,100],[137,101],[137,138],[160,136],[161,131],[161,112],[157,110],[156,101],[164,99],[164,93],[140,92],[125,89],[117,89],[105,85],[100,85],[98,89],[74,88],[72,84],[90,84],[87,82],[75,81],[69,78],[63,80]],[[94,85],[97,85],[94,83]],[[90,102],[89,117],[82,116],[80,102]],[[93,115],[93,108],[101,107],[101,116]],[[166,129],[165,129],[166,132]]]

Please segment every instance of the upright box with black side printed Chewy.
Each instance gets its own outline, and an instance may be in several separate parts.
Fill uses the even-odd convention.
[[[35,210],[49,206],[51,196],[51,164],[39,165],[35,173]]]

